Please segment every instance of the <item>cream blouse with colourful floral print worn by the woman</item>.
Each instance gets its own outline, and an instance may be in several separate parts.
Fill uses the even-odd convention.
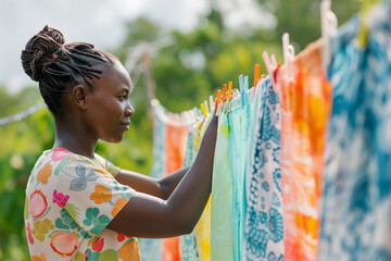
[[[38,159],[26,189],[25,226],[34,261],[140,260],[137,238],[106,229],[135,190],[118,169],[58,148]]]

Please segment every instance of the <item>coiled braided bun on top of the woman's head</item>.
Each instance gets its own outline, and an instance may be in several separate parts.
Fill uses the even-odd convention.
[[[60,30],[45,26],[37,35],[27,42],[22,51],[22,65],[25,73],[36,82],[39,82],[45,69],[56,60],[54,53],[65,42]]]

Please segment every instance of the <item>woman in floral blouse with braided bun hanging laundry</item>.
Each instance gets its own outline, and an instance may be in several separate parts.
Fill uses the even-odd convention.
[[[31,171],[25,225],[33,260],[139,260],[136,237],[190,233],[211,191],[217,117],[190,167],[154,179],[119,170],[93,151],[119,142],[135,113],[130,77],[92,45],[64,45],[46,26],[22,51],[27,75],[55,122],[55,140]]]

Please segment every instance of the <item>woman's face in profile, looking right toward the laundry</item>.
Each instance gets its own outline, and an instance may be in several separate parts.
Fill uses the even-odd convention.
[[[87,132],[97,139],[119,142],[129,129],[135,110],[129,102],[130,77],[115,61],[104,67],[99,79],[91,82],[93,89],[87,95],[87,110],[83,114]]]

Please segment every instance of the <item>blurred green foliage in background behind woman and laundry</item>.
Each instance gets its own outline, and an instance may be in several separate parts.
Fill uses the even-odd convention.
[[[112,52],[125,62],[126,53],[140,42],[169,36],[173,44],[152,54],[155,96],[169,111],[198,107],[229,80],[238,88],[239,74],[249,75],[251,86],[254,64],[260,63],[261,71],[266,72],[262,61],[264,50],[282,61],[282,33],[290,33],[298,50],[320,36],[319,1],[257,2],[276,16],[275,29],[252,29],[249,34],[245,28],[245,35],[229,30],[218,10],[201,17],[190,33],[165,32],[140,18],[127,25],[125,41]],[[358,10],[358,5],[356,0],[333,1],[332,10],[341,24]],[[152,164],[152,122],[143,78],[133,88],[130,100],[136,113],[130,130],[121,144],[99,141],[97,152],[123,169],[148,174]],[[12,96],[0,86],[0,117],[20,112],[39,100],[36,87]],[[0,126],[0,260],[28,260],[23,222],[25,184],[40,153],[51,148],[53,134],[54,123],[47,109],[21,122]]]

